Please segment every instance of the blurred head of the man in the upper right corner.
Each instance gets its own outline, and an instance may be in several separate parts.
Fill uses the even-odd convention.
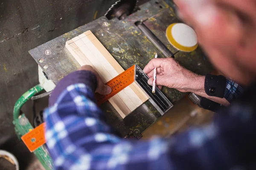
[[[244,85],[256,78],[256,0],[175,0],[215,67]]]

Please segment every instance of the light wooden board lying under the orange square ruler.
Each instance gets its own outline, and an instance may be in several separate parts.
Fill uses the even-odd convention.
[[[67,41],[66,48],[80,65],[91,65],[104,83],[124,71],[91,31],[86,31]],[[125,118],[146,100],[148,100],[148,96],[133,82],[109,99],[109,102],[120,116]]]

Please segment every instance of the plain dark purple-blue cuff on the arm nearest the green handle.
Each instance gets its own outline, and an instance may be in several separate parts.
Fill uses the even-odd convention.
[[[56,85],[55,89],[52,91],[52,94],[49,97],[49,106],[53,106],[58,96],[64,91],[69,85],[76,83],[83,83],[89,86],[93,91],[96,91],[97,87],[97,77],[91,71],[75,71],[68,74],[66,77],[61,79],[60,82]]]

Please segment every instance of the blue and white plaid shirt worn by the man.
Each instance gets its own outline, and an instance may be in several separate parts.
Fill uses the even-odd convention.
[[[78,74],[87,74],[87,79]],[[95,79],[86,71],[74,72],[53,91],[54,100],[44,112],[44,119],[47,146],[56,169],[255,169],[256,114],[250,105],[230,105],[216,113],[211,125],[169,139],[122,139],[106,124],[96,105]],[[235,87],[227,87],[227,91],[236,93]]]

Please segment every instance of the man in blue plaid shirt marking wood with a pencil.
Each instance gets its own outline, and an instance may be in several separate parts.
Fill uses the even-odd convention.
[[[59,82],[44,112],[47,145],[56,169],[256,169],[256,1],[176,3],[180,17],[195,28],[212,63],[246,86],[244,93],[215,113],[206,127],[171,139],[127,140],[113,133],[95,103],[95,91],[108,94],[111,89],[90,66],[83,66]],[[218,77],[196,75],[174,59],[151,60],[144,68],[149,77],[154,67],[158,68],[157,85],[194,92],[224,105],[229,104],[225,93],[236,96],[239,87],[227,80],[220,98],[208,89],[210,79]]]

